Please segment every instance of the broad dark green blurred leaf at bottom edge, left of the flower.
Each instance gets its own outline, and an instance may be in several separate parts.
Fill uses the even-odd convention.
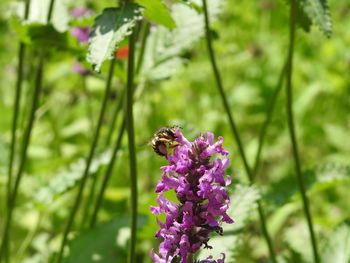
[[[146,223],[146,217],[138,218],[138,228]],[[130,218],[121,216],[99,224],[81,233],[69,243],[69,256],[64,263],[114,263],[126,262],[126,243]]]

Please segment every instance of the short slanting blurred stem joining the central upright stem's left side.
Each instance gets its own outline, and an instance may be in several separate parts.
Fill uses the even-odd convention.
[[[103,196],[104,196],[104,193],[106,191],[109,179],[110,179],[110,177],[112,175],[114,164],[115,164],[115,161],[116,161],[116,158],[117,158],[117,153],[118,153],[118,151],[120,149],[120,145],[121,145],[122,138],[123,138],[123,135],[124,135],[125,123],[126,123],[126,121],[125,121],[125,118],[124,118],[124,120],[122,122],[122,125],[120,126],[118,138],[117,138],[117,141],[116,141],[116,143],[114,145],[114,149],[113,149],[113,152],[112,152],[112,155],[111,155],[111,159],[109,161],[106,173],[105,173],[105,175],[103,177],[103,181],[102,181],[102,185],[101,185],[100,191],[98,192],[98,196],[97,196],[97,200],[96,200],[96,203],[95,203],[94,211],[92,213],[91,221],[90,221],[90,227],[91,228],[94,227],[96,222],[97,222],[98,211],[101,208],[102,201],[103,201]]]

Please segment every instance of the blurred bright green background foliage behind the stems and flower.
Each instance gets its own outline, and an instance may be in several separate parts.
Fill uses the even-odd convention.
[[[52,253],[57,252],[74,200],[74,186],[79,182],[80,171],[90,147],[108,74],[108,63],[101,66],[100,73],[82,76],[72,70],[75,61],[81,61],[85,67],[89,65],[85,62],[87,44],[78,43],[70,30],[73,26],[92,26],[104,9],[115,8],[117,1],[56,2],[53,26],[48,26],[40,24],[46,16],[47,1],[33,0],[30,23],[24,24],[18,18],[23,10],[23,2],[0,1],[1,218],[5,213],[3,200],[6,199],[17,43],[22,40],[28,44],[18,138],[22,138],[28,117],[38,49],[50,46],[46,57],[44,91],[36,114],[29,159],[13,218],[13,262],[48,262]],[[137,2],[142,5],[146,1]],[[161,4],[160,1],[153,2]],[[230,251],[222,251],[230,255],[227,262],[268,262],[267,246],[253,209],[254,202],[259,198],[266,207],[268,229],[279,261],[311,262],[308,232],[286,126],[284,92],[279,96],[272,123],[268,127],[256,185],[247,186],[248,180],[237,146],[217,94],[206,45],[201,39],[204,32],[200,1],[166,3],[169,6],[158,6],[162,14],[158,20],[152,18],[157,11],[149,11],[148,18],[153,22],[150,23],[144,60],[136,79],[134,114],[139,213],[147,218],[142,231],[138,233],[138,262],[151,262],[149,250],[158,245],[154,239],[158,226],[149,207],[156,204],[154,188],[161,174],[160,166],[165,164],[164,159],[152,152],[147,142],[159,127],[174,124],[181,126],[183,133],[190,139],[205,131],[225,138],[224,147],[229,150],[232,161],[227,170],[233,178],[231,215],[236,222],[225,226],[227,236],[213,238],[212,245],[218,242],[216,249],[222,248],[220,242],[231,246]],[[37,6],[41,4],[43,7]],[[289,6],[285,1],[272,0],[239,3],[233,0],[212,0],[209,4],[217,61],[231,110],[237,119],[252,164],[259,130],[287,55]],[[350,4],[347,1],[328,1],[328,5],[322,0],[301,1],[304,15],[310,16],[311,13],[314,18],[324,16],[328,22],[324,22],[323,18],[323,22],[311,19],[303,27],[309,29],[309,33],[302,28],[297,31],[294,111],[311,212],[322,247],[321,257],[324,262],[345,263],[349,261],[350,211]],[[83,19],[73,18],[69,11],[76,7],[89,7],[94,13]],[[171,10],[171,17],[166,13],[168,9]],[[169,29],[173,27],[173,22],[176,27]],[[138,58],[145,30],[137,30],[140,31],[136,50]],[[329,35],[331,31],[331,38],[322,33]],[[125,44],[122,41],[119,46]],[[115,43],[109,52],[113,52],[114,48]],[[79,255],[82,259],[78,260],[72,255],[74,260],[67,262],[93,262],[92,258],[89,261],[85,256],[90,255],[89,247],[95,243],[96,247],[108,243],[108,247],[103,246],[106,251],[110,245],[115,245],[117,251],[120,247],[110,242],[127,242],[128,224],[125,220],[129,214],[130,198],[126,136],[99,213],[101,224],[95,229],[89,229],[85,221],[94,205],[94,199],[89,199],[89,192],[94,185],[97,189],[100,187],[110,149],[122,123],[119,114],[112,142],[106,142],[113,111],[125,82],[126,60],[117,59],[113,92],[102,127],[98,154],[71,233],[71,238],[74,238],[71,250],[82,250]],[[0,220],[1,228],[2,224]],[[121,231],[120,227],[126,227],[126,230]],[[84,245],[85,242],[89,244]],[[126,253],[125,246],[126,243],[123,243],[123,253]],[[214,257],[218,256],[215,252]],[[95,259],[97,257],[95,255]]]

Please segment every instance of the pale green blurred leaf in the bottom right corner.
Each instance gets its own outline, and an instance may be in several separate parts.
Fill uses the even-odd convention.
[[[350,261],[350,219],[340,224],[329,236],[322,249],[322,262]]]

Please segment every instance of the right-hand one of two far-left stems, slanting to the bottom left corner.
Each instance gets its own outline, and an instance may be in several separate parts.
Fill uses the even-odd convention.
[[[13,186],[13,191],[11,193],[9,203],[8,203],[8,213],[6,214],[5,218],[5,224],[4,224],[4,232],[2,236],[2,243],[0,247],[0,260],[4,254],[5,248],[9,247],[9,236],[10,236],[10,229],[11,229],[11,224],[12,224],[12,214],[13,210],[16,205],[16,198],[17,198],[17,193],[18,193],[18,188],[23,176],[23,170],[27,161],[27,150],[30,142],[30,137],[34,125],[34,120],[35,120],[35,112],[38,108],[39,105],[39,98],[40,98],[40,93],[42,89],[42,75],[43,75],[43,67],[44,67],[44,53],[41,53],[40,58],[39,58],[39,64],[36,72],[36,78],[35,78],[35,87],[34,87],[34,94],[33,94],[33,101],[31,104],[30,108],[30,113],[29,113],[29,120],[27,123],[27,126],[24,131],[24,137],[23,137],[23,143],[21,147],[21,152],[20,152],[20,159],[19,159],[19,167],[18,171],[15,177],[15,184]]]

